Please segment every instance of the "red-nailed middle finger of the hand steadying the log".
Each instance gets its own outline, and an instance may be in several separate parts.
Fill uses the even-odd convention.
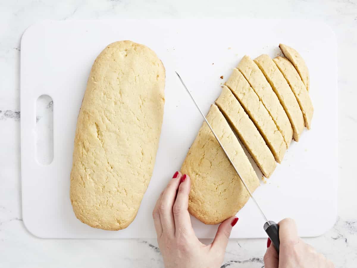
[[[164,194],[162,194],[159,204],[159,214],[162,225],[162,232],[169,235],[175,234],[175,221],[172,214],[172,206],[176,199],[176,191],[182,178],[181,172],[176,172],[169,184],[167,184]]]

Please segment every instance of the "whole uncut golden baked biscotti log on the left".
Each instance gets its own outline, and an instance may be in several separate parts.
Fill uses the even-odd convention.
[[[126,228],[150,182],[164,113],[165,68],[132,41],[108,45],[92,66],[74,142],[70,198],[91,227]]]

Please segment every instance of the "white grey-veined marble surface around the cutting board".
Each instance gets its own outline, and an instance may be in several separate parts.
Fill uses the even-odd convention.
[[[339,90],[336,100],[339,105],[338,219],[326,234],[306,240],[333,260],[336,267],[356,267],[357,1],[281,2],[0,1],[0,267],[163,267],[155,240],[39,239],[24,227],[19,142],[19,59],[24,30],[42,19],[203,17],[312,18],[325,21],[335,31]],[[328,64],[326,57],[326,63],[321,64]],[[145,222],[142,224],[145,228]],[[239,223],[235,228],[239,228]],[[231,240],[223,267],[262,267],[265,249],[263,239]]]

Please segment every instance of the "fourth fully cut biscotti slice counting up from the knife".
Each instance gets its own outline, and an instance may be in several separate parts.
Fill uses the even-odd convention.
[[[294,93],[270,56],[266,54],[260,55],[254,62],[258,65],[280,100],[280,104],[283,106],[294,131],[293,138],[298,142],[305,124]]]

